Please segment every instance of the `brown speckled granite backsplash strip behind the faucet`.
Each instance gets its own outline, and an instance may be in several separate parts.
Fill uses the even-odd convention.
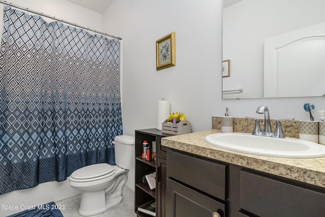
[[[233,131],[236,133],[252,133],[255,126],[253,119],[233,117]],[[282,123],[282,130],[285,137],[299,139],[299,120],[285,120]],[[264,129],[264,119],[259,119],[261,130]],[[271,120],[271,128],[274,131],[276,120]],[[221,130],[221,117],[212,117],[212,129]]]

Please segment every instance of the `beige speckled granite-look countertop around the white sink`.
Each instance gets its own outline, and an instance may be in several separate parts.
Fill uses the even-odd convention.
[[[271,158],[225,150],[205,142],[205,137],[214,133],[220,131],[208,130],[165,137],[161,139],[161,145],[325,188],[325,158]]]

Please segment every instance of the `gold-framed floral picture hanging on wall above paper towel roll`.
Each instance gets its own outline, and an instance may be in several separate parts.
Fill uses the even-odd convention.
[[[156,41],[156,70],[175,65],[175,32],[172,32]]]

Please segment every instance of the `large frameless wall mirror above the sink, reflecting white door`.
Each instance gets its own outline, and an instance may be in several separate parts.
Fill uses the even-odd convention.
[[[222,99],[325,95],[324,0],[223,0]]]

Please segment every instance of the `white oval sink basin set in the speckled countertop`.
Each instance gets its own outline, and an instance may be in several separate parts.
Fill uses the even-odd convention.
[[[276,158],[321,158],[325,157],[325,146],[294,138],[272,138],[245,133],[217,133],[205,140],[216,147]]]

